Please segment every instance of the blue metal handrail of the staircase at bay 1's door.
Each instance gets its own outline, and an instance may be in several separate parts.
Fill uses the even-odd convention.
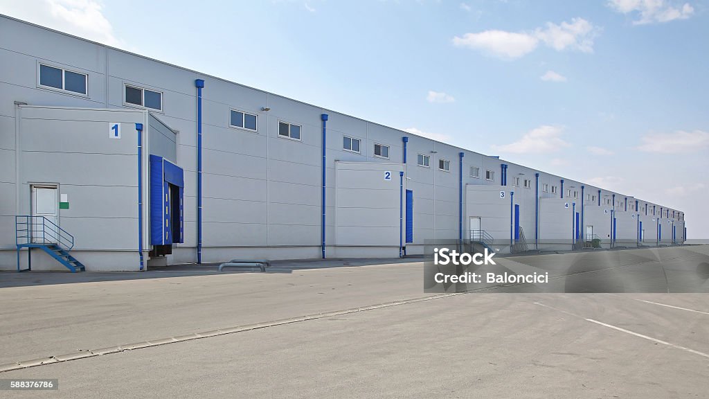
[[[74,248],[74,236],[43,216],[15,216],[15,244],[57,244],[66,251]]]

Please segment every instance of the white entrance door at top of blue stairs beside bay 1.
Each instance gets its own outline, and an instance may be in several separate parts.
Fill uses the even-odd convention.
[[[56,186],[32,186],[33,242],[57,242],[58,204]]]

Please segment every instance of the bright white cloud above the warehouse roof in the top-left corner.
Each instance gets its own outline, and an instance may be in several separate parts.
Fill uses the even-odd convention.
[[[94,0],[23,0],[3,2],[2,13],[113,47],[125,48]]]

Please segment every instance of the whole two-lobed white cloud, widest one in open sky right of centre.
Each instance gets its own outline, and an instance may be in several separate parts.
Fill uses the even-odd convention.
[[[544,43],[557,51],[573,49],[593,53],[593,38],[596,37],[598,30],[584,18],[573,18],[571,23],[562,22],[559,25],[547,22],[544,28],[537,28],[533,32],[493,29],[479,33],[465,33],[462,37],[455,36],[453,45],[510,59],[532,53],[539,43]]]

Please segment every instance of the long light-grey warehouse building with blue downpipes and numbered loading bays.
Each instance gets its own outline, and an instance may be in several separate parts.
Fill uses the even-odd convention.
[[[677,209],[0,16],[0,269],[685,239]]]

